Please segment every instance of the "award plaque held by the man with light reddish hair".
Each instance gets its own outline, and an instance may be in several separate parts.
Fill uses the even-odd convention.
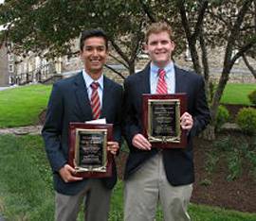
[[[180,127],[180,116],[187,109],[186,93],[143,94],[143,135],[160,148],[184,148],[186,131]]]

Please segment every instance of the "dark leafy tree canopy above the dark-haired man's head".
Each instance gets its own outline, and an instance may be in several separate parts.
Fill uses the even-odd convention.
[[[111,57],[133,74],[143,41],[145,14],[137,8],[136,0],[9,0],[0,6],[0,24],[7,27],[3,41],[13,42],[15,53],[32,51],[47,58],[72,55],[72,40],[82,29],[101,27],[120,59],[115,54]]]

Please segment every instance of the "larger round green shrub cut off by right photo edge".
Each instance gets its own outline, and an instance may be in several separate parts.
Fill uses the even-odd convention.
[[[236,123],[247,134],[256,132],[256,110],[253,108],[244,108],[239,110],[236,116]]]

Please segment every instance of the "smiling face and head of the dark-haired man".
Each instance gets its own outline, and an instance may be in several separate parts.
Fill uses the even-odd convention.
[[[81,51],[84,69],[90,76],[101,76],[107,58],[105,41],[101,37],[91,37],[84,41]]]

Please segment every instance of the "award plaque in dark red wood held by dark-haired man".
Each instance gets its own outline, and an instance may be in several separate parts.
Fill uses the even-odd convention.
[[[111,124],[70,123],[68,164],[77,177],[111,176],[113,156],[107,151],[107,142],[112,141],[112,130]]]

